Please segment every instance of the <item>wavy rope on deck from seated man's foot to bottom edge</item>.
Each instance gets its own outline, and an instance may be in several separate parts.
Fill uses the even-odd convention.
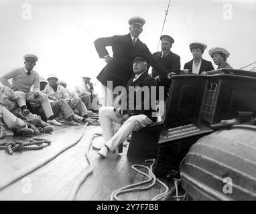
[[[101,136],[100,133],[94,133],[92,134],[92,136],[90,137],[89,140],[89,144],[86,148],[85,154],[84,156],[86,157],[87,161],[88,161],[88,165],[89,165],[89,169],[87,171],[85,171],[84,175],[82,175],[82,177],[76,182],[76,184],[74,185],[71,193],[70,193],[70,197],[69,197],[69,201],[74,201],[76,198],[76,193],[78,192],[78,189],[80,188],[80,186],[82,185],[82,183],[84,183],[85,179],[88,177],[88,175],[90,175],[93,172],[94,166],[92,164],[92,159],[90,158],[89,155],[89,150],[90,147],[92,146],[92,140],[96,137],[96,136]]]

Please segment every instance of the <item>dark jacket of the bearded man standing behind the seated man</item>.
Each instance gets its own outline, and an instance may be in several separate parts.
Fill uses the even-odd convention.
[[[153,53],[153,56],[159,61],[159,63],[162,64],[162,66],[164,66],[164,68],[166,68],[168,73],[175,72],[176,74],[178,74],[180,72],[180,56],[172,53],[172,51],[170,51],[170,53],[165,58],[161,58],[162,51]],[[153,78],[159,75],[159,72],[153,68]]]

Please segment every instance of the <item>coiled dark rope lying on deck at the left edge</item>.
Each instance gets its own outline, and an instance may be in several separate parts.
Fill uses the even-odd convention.
[[[43,144],[47,145],[43,145]],[[5,150],[8,154],[13,154],[20,150],[40,150],[51,144],[50,140],[42,138],[32,138],[29,142],[23,143],[21,140],[15,142],[4,142],[0,144],[0,150]],[[36,146],[32,146],[36,145]]]

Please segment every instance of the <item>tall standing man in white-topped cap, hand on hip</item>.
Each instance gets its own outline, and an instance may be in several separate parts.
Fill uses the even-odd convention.
[[[114,35],[94,41],[99,57],[107,62],[107,66],[97,76],[97,79],[103,84],[103,98],[107,106],[113,106],[113,89],[116,86],[125,86],[133,75],[132,59],[134,54],[147,54],[151,66],[159,72],[161,77],[166,78],[168,75],[166,68],[151,55],[147,45],[139,40],[145,20],[141,17],[131,17],[128,23],[130,27],[127,35]],[[112,46],[113,58],[109,56],[109,52],[106,49],[107,46]],[[111,86],[107,88],[108,81],[113,83],[112,88]]]

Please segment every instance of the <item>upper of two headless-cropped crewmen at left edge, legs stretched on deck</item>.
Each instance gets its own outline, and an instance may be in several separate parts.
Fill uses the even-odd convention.
[[[21,96],[19,96],[19,94],[15,94],[11,88],[3,86],[1,82],[0,106],[6,108],[18,118],[36,126],[37,128],[31,126],[35,132],[34,134],[39,134],[40,132],[52,132],[54,130],[54,127],[49,126],[46,122],[41,120],[40,116],[31,114]]]

